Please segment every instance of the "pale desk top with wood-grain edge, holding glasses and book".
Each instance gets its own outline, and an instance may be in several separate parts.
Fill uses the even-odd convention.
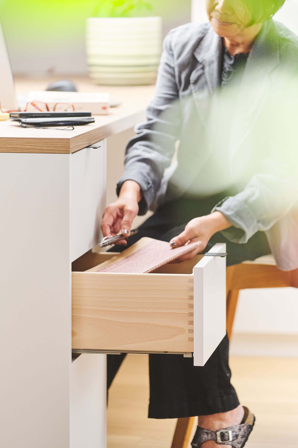
[[[35,152],[71,154],[103,138],[118,134],[145,120],[147,104],[155,86],[97,86],[88,78],[71,78],[79,91],[109,92],[111,101],[122,104],[111,108],[109,115],[95,115],[95,123],[76,126],[73,131],[21,128],[16,122],[0,121],[0,152]],[[16,79],[18,95],[29,90],[45,90],[56,79]]]

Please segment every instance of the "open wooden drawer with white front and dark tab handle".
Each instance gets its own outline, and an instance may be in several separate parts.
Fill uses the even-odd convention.
[[[150,274],[96,272],[114,256],[88,252],[73,263],[72,351],[193,352],[203,366],[226,334],[226,258],[197,255]]]

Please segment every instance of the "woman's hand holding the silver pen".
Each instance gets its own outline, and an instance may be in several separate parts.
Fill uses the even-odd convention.
[[[142,199],[141,188],[135,181],[125,181],[121,187],[118,199],[106,207],[102,217],[101,232],[104,237],[115,236],[121,232],[130,235],[131,224],[139,212],[139,202]],[[127,244],[126,240],[116,244]]]

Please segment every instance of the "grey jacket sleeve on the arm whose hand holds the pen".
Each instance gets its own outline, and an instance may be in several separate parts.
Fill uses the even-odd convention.
[[[172,52],[172,37],[175,30],[164,39],[159,64],[155,97],[147,108],[147,121],[135,126],[135,137],[126,146],[125,172],[117,184],[119,195],[123,182],[137,182],[143,198],[139,203],[139,215],[149,209],[165,168],[171,164],[175,143],[180,136],[180,105]]]

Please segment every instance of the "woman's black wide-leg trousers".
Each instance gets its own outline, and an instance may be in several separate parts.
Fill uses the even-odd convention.
[[[170,241],[195,217],[207,215],[227,194],[210,198],[179,198],[168,202],[130,237],[129,245],[142,237]],[[205,251],[216,242],[227,243],[227,265],[254,260],[270,254],[267,238],[258,232],[246,244],[228,241],[216,233]],[[118,252],[125,247],[115,246]],[[205,252],[204,251],[204,252]],[[113,381],[124,355],[108,355],[108,387]],[[235,409],[239,400],[231,384],[229,341],[227,335],[203,367],[193,366],[193,358],[183,355],[149,354],[150,402],[149,418],[182,418],[217,414]]]

